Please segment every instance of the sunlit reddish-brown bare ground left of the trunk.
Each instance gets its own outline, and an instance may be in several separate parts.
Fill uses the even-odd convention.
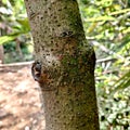
[[[39,91],[30,63],[0,65],[0,130],[43,130]]]

